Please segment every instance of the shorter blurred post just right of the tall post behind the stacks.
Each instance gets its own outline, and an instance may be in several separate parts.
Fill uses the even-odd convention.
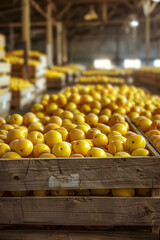
[[[62,23],[57,23],[57,64],[62,65]]]

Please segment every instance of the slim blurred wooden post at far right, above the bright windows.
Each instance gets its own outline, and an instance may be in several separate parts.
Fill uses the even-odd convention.
[[[148,13],[146,16],[146,33],[145,33],[145,41],[146,41],[146,65],[150,63],[150,14]]]

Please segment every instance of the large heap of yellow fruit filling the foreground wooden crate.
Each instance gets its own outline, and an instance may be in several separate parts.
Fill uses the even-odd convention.
[[[159,107],[158,96],[126,85],[75,85],[45,94],[24,116],[0,118],[0,158],[149,156],[145,138],[130,130],[124,115],[137,118]],[[134,196],[135,190],[112,194]]]

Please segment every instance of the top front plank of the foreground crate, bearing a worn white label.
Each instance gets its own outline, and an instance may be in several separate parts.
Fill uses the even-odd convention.
[[[159,169],[160,157],[1,159],[0,191],[160,188]],[[68,182],[75,174],[77,187]]]

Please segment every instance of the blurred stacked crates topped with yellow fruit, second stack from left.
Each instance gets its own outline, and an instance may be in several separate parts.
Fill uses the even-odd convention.
[[[12,108],[20,111],[27,110],[35,101],[39,101],[46,91],[46,56],[39,52],[29,52],[28,68],[25,66],[23,56],[24,52],[20,50],[8,53],[8,59],[6,58],[6,61],[12,64],[13,78],[19,78],[19,80],[28,78],[32,83],[27,88],[12,89]]]

